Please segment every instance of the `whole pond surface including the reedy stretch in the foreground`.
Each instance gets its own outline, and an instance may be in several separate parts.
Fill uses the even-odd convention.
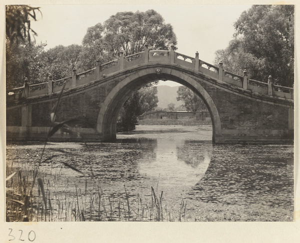
[[[211,136],[211,126],[139,125],[115,143],[48,142],[43,157],[54,157],[39,177],[49,203],[35,186],[34,220],[292,221],[293,146]],[[42,148],[7,144],[9,170],[30,181]]]

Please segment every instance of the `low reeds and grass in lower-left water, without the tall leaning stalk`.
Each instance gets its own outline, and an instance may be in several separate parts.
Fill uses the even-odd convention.
[[[91,177],[83,181],[78,179],[77,182],[73,182],[65,177],[61,168],[56,168],[53,172],[40,170],[37,185],[31,196],[28,191],[31,189],[32,173],[23,175],[18,172],[12,180],[9,180],[9,183],[11,182],[15,183],[15,187],[22,186],[18,188],[20,193],[15,198],[20,205],[12,202],[6,205],[8,221],[23,221],[24,215],[27,215],[25,217],[28,221],[184,221],[185,219],[186,202],[181,201],[175,206],[168,205],[167,200],[163,198],[163,191],[155,190],[154,187],[149,188],[150,197],[146,198],[142,195],[130,195],[125,185],[123,193],[110,195],[103,192],[97,178]],[[63,186],[59,190],[51,191],[51,188],[57,188],[57,185]],[[21,193],[29,194],[27,206],[22,203],[25,200],[20,197]]]

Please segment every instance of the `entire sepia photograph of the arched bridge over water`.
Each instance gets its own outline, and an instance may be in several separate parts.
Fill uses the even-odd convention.
[[[2,6],[7,242],[295,222],[294,3],[33,2]]]

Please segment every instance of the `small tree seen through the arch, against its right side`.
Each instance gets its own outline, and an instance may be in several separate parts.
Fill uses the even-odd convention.
[[[187,111],[196,112],[206,110],[206,105],[201,98],[185,86],[179,86],[176,99],[183,101]]]

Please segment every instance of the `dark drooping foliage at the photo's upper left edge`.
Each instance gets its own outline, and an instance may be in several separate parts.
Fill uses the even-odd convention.
[[[41,64],[45,44],[34,46],[31,36],[37,34],[31,29],[30,22],[36,21],[39,8],[28,5],[5,6],[5,57],[6,88],[23,85],[24,78],[37,82],[38,67]],[[40,56],[40,57],[39,57]]]

